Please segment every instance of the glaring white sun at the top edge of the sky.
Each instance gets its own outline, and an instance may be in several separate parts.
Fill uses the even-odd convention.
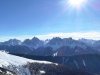
[[[68,0],[68,4],[77,9],[80,9],[85,3],[86,0]]]

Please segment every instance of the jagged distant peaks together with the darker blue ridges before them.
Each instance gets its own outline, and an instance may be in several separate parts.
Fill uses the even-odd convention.
[[[67,56],[88,53],[100,53],[100,41],[72,38],[54,37],[46,41],[36,37],[26,39],[23,42],[10,39],[0,43],[0,49],[11,54],[28,54],[36,56]]]

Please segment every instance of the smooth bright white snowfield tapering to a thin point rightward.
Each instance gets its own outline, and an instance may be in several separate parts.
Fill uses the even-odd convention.
[[[7,52],[4,52],[4,51],[0,51],[0,66],[1,65],[8,66],[10,64],[19,66],[19,65],[27,64],[27,62],[45,63],[45,64],[51,64],[52,63],[52,62],[48,62],[48,61],[31,60],[31,59],[27,59],[27,58],[11,55],[11,54],[8,54]]]

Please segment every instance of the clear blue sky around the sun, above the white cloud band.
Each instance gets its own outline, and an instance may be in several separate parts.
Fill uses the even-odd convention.
[[[63,1],[0,0],[0,36],[100,32],[99,0],[88,0],[81,11]]]

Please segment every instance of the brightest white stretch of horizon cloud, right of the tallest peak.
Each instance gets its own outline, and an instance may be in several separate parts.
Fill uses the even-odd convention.
[[[39,35],[37,36],[40,39],[51,39],[53,37],[61,37],[61,38],[69,38],[72,37],[73,39],[93,39],[93,40],[100,40],[100,32],[71,32],[71,33],[50,33],[47,35]]]

